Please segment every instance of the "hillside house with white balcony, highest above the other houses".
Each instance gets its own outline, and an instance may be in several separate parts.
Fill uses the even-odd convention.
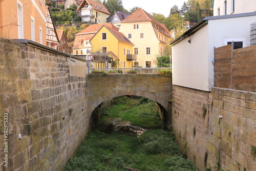
[[[82,22],[91,24],[106,23],[106,18],[110,16],[110,12],[104,5],[92,0],[84,0],[78,7],[77,11],[81,16]]]

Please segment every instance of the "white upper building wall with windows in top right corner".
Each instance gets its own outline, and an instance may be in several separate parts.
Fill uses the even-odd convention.
[[[224,2],[225,0],[214,1],[214,16],[218,15],[218,8],[220,8],[220,15],[224,15]],[[226,0],[226,2],[227,2],[227,15],[256,11],[255,0],[235,0],[234,11],[231,10],[233,0]]]

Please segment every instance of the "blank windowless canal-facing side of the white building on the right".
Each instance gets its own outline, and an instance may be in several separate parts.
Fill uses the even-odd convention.
[[[191,40],[189,44],[188,40]],[[182,39],[173,48],[173,84],[203,91],[210,91],[208,56],[208,25],[200,32]],[[213,73],[213,68],[212,73]],[[211,75],[212,75],[211,73]]]

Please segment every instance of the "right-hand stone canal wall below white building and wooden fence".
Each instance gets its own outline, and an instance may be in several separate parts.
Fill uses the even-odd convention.
[[[255,114],[255,93],[173,87],[173,131],[200,170],[256,170]]]

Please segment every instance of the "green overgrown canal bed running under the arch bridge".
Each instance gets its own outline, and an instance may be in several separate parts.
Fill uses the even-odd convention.
[[[69,160],[68,170],[198,170],[163,129],[157,105],[138,96],[112,100],[95,130]]]

